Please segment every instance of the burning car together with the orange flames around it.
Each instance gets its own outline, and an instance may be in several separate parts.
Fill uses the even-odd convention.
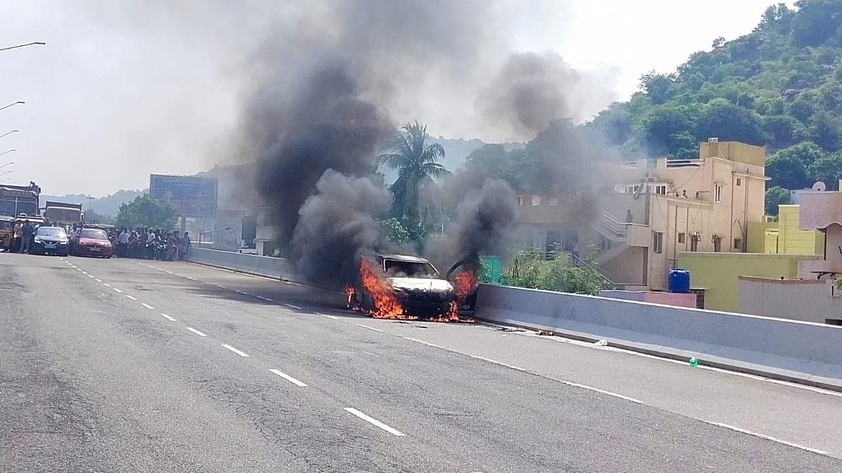
[[[461,301],[476,290],[476,277],[456,274],[453,284],[424,258],[377,255],[360,259],[360,279],[348,284],[349,308],[375,318],[470,322],[460,318]]]

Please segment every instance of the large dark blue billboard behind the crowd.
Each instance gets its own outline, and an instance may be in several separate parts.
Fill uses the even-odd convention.
[[[215,178],[149,174],[149,194],[170,201],[184,217],[214,218],[216,186]]]

